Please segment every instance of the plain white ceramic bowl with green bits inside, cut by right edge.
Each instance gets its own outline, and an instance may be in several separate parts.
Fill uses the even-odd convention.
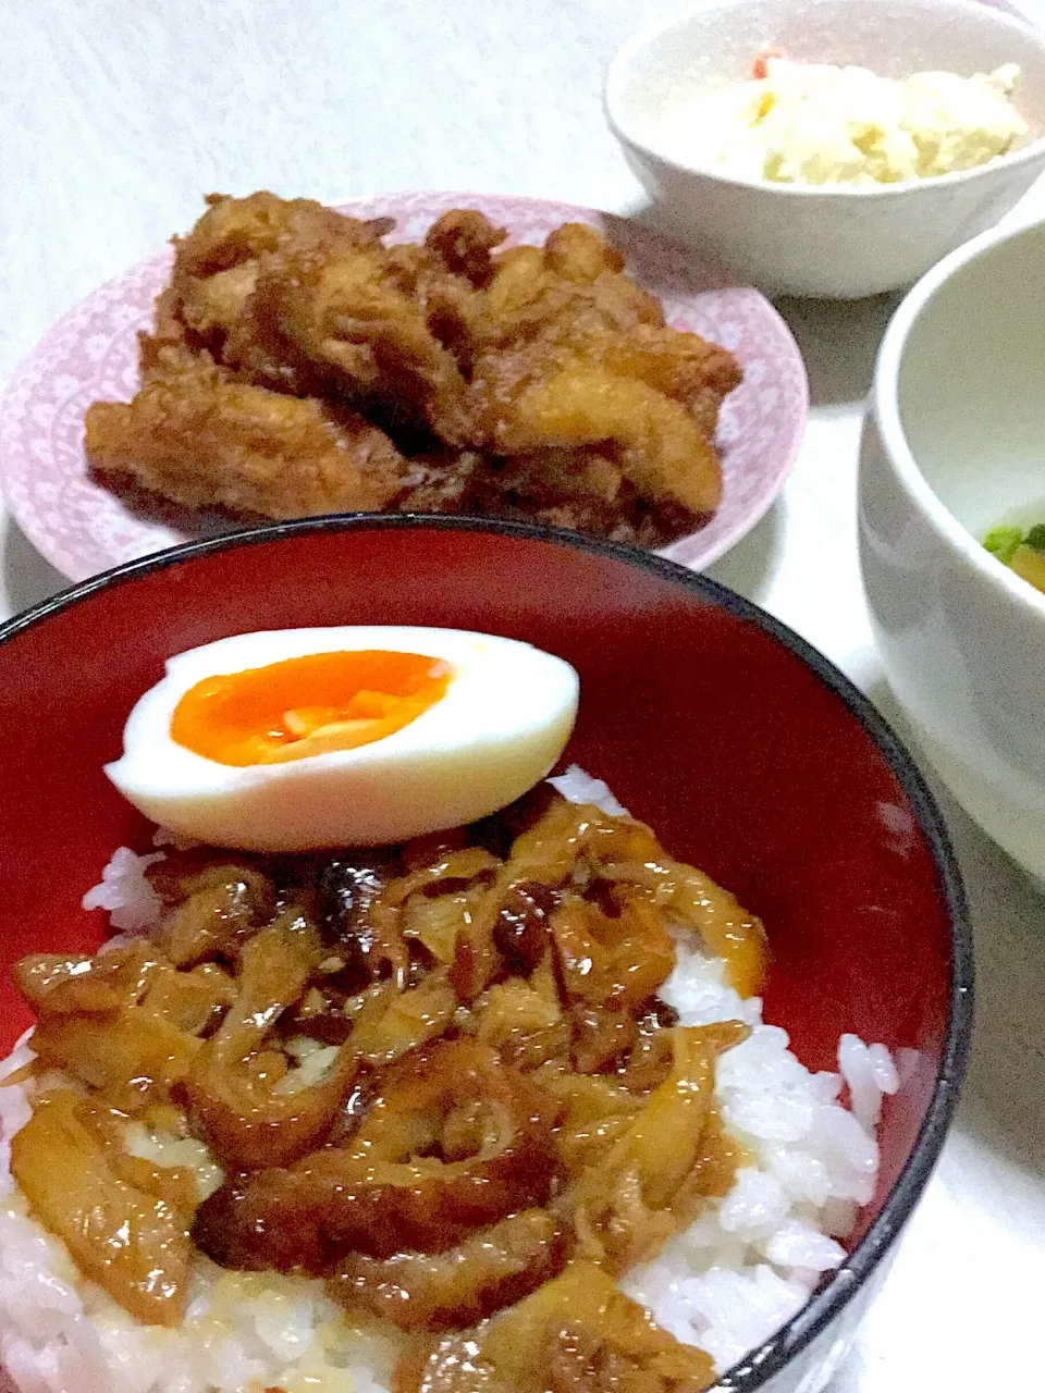
[[[860,556],[889,681],[963,807],[1045,876],[1045,595],[980,545],[1045,520],[1045,223],[986,233],[889,326]]]

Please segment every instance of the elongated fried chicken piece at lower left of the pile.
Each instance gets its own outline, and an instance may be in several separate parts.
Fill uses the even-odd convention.
[[[400,490],[405,461],[361,417],[230,380],[184,348],[149,355],[132,403],[88,410],[85,449],[103,478],[270,518],[373,511]]]

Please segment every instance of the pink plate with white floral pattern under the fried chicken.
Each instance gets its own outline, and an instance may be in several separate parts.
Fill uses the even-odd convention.
[[[748,532],[780,492],[803,437],[805,369],[787,326],[768,299],[737,286],[698,252],[641,223],[570,203],[470,194],[386,194],[341,212],[389,215],[393,238],[419,240],[449,208],[478,208],[516,242],[539,242],[564,221],[599,228],[627,258],[631,276],[658,295],[677,329],[723,344],[744,368],[719,425],[725,500],[706,527],[665,554],[694,570]],[[92,401],[130,400],[138,386],[135,332],[170,272],[169,251],[88,295],[46,334],[15,372],[0,415],[0,483],[36,549],[74,581],[120,561],[233,524],[162,508],[137,510],[98,483],[84,457],[84,412]]]

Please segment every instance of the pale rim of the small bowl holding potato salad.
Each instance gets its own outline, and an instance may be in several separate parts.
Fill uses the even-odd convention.
[[[821,3],[865,8],[865,0],[821,0]],[[908,0],[908,3],[918,4],[925,10],[950,10],[954,11],[956,18],[967,20],[973,24],[982,21],[986,28],[993,26],[995,29],[1007,29],[1009,32],[1019,33],[1023,39],[1034,42],[1045,59],[1045,32],[1038,31],[1025,15],[998,10],[992,4],[984,3],[984,0]],[[985,164],[975,164],[967,170],[953,170],[950,174],[931,174],[925,178],[897,180],[895,184],[775,184],[769,180],[740,178],[725,173],[711,163],[684,164],[674,156],[665,155],[651,145],[648,139],[637,134],[634,124],[631,124],[628,106],[623,98],[624,84],[635,59],[656,39],[670,33],[673,29],[681,29],[691,20],[697,18],[697,15],[723,10],[743,10],[751,4],[752,0],[706,0],[704,4],[691,4],[688,8],[677,11],[673,15],[655,20],[624,40],[606,65],[602,84],[602,109],[606,124],[621,145],[641,150],[644,155],[680,174],[709,178],[716,184],[726,184],[733,188],[758,189],[764,194],[794,199],[896,199],[915,189],[957,187],[984,176],[999,174],[1003,170],[1045,162],[1045,134],[1035,137],[1027,145],[1019,146],[1019,149],[995,156]],[[796,0],[796,7],[800,7],[798,0]]]

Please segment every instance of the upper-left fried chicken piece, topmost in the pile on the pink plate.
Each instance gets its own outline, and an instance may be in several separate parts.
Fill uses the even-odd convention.
[[[460,219],[440,220],[432,248],[385,248],[389,219],[359,221],[272,194],[216,199],[177,242],[176,318],[247,382],[341,397],[405,429],[439,421],[457,435],[464,382],[429,330],[426,298],[450,332],[447,306],[471,293],[453,267],[490,273],[489,248],[504,237],[479,213]]]

